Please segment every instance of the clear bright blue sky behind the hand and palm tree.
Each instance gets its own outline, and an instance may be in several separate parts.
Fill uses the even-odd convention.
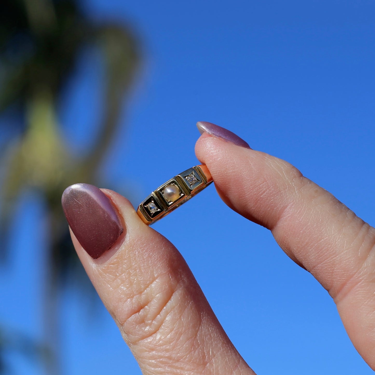
[[[196,165],[195,123],[210,121],[293,163],[374,225],[373,1],[86,0],[84,7],[98,21],[130,24],[143,55],[100,187],[138,204]],[[95,136],[87,129],[101,116],[102,75],[100,58],[87,49],[59,108],[63,135],[77,154]],[[165,151],[154,153],[150,139]],[[12,226],[11,267],[0,276],[1,321],[34,335],[42,319],[44,220],[40,197],[25,194]],[[373,373],[327,292],[269,231],[226,207],[213,186],[154,229],[183,254],[259,375]],[[75,289],[63,296],[65,373],[140,374],[109,314],[100,304],[89,314]],[[12,362],[21,374],[40,374]]]

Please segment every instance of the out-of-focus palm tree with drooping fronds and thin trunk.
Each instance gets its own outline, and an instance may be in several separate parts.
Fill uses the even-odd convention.
[[[60,138],[56,107],[60,91],[82,49],[95,45],[104,57],[104,120],[90,152],[81,159]],[[50,243],[43,319],[46,373],[60,372],[58,359],[58,295],[64,276],[75,266],[61,195],[77,181],[95,183],[95,172],[113,140],[124,94],[138,66],[137,43],[130,30],[95,24],[77,0],[2,0],[0,5],[0,113],[16,108],[24,125],[21,136],[0,150],[5,165],[1,186],[1,230],[25,188],[42,192],[49,217]],[[1,246],[3,255],[6,246]],[[5,257],[6,259],[6,257]],[[0,351],[5,341],[1,341]],[[21,345],[22,347],[22,345]],[[0,353],[1,359],[1,353]],[[1,365],[1,361],[0,361]],[[1,366],[0,366],[1,372]]]

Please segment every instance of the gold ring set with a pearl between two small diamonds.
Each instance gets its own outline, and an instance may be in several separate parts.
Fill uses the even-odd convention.
[[[163,183],[137,209],[142,221],[151,225],[186,202],[212,182],[212,176],[204,164],[186,169]]]

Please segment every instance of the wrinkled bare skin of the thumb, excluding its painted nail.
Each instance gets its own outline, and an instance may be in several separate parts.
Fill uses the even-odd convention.
[[[96,262],[72,238],[143,373],[254,374],[227,338],[174,246],[140,224],[123,197],[103,191],[127,228],[117,252],[105,262]]]

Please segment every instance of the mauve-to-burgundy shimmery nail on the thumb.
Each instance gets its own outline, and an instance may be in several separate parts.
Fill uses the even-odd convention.
[[[66,220],[81,246],[96,259],[123,233],[120,217],[110,199],[98,187],[74,184],[61,199]]]

